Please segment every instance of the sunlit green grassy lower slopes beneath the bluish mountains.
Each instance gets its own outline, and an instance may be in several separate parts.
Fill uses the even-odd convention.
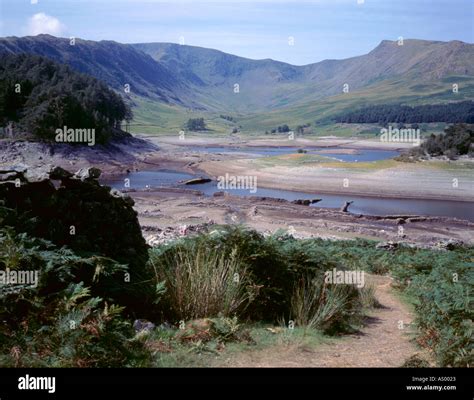
[[[452,84],[458,83],[458,93],[453,93]],[[277,126],[288,124],[290,129],[310,123],[309,131],[317,136],[373,136],[380,131],[374,125],[335,124],[332,119],[341,113],[377,104],[438,104],[463,101],[474,98],[474,78],[451,76],[435,83],[413,84],[404,80],[391,79],[369,85],[366,88],[341,93],[317,101],[292,105],[279,110],[258,113],[227,112],[235,118],[236,124],[219,118],[224,112],[191,111],[177,106],[166,106],[145,99],[136,99],[134,123],[157,125],[156,127],[136,127],[132,132],[172,134],[184,126],[188,118],[204,117],[212,131],[227,134],[232,127],[241,126],[245,135],[261,135]],[[441,132],[444,124],[431,124],[427,131]],[[433,129],[434,127],[434,129]]]

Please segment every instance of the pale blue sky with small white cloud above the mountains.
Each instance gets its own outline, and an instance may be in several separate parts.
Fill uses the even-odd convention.
[[[39,33],[182,43],[304,65],[399,37],[473,43],[474,1],[0,0],[0,36]]]

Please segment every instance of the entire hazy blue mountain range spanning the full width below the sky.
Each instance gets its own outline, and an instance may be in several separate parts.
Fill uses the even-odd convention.
[[[474,77],[474,44],[458,40],[405,39],[402,46],[382,40],[367,54],[303,66],[174,43],[76,39],[71,46],[69,40],[10,36],[0,38],[0,53],[43,55],[122,93],[128,83],[132,94],[211,112],[269,112],[298,104],[311,108],[314,102],[342,94],[345,84],[350,92],[393,85],[394,100],[398,92],[409,91],[411,97],[431,96],[436,102],[451,89],[450,77],[469,82]]]

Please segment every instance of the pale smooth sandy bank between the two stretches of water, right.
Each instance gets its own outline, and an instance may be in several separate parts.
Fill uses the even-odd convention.
[[[227,160],[225,163],[205,161],[199,164],[199,169],[214,178],[226,173],[256,176],[260,187],[314,194],[474,202],[472,169],[451,170],[395,162],[378,169],[351,163],[347,166],[344,163],[262,166],[255,159]]]

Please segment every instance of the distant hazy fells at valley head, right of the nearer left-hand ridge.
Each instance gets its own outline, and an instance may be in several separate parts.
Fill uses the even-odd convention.
[[[201,97],[228,104],[237,112],[315,101],[342,93],[344,84],[355,90],[395,77],[429,82],[451,75],[474,76],[474,45],[460,41],[405,39],[398,46],[396,41],[383,40],[364,55],[304,66],[172,43],[132,46],[165,67],[192,76],[199,82],[196,91]],[[241,89],[240,101],[232,96],[234,84]],[[250,93],[246,93],[248,88]]]

